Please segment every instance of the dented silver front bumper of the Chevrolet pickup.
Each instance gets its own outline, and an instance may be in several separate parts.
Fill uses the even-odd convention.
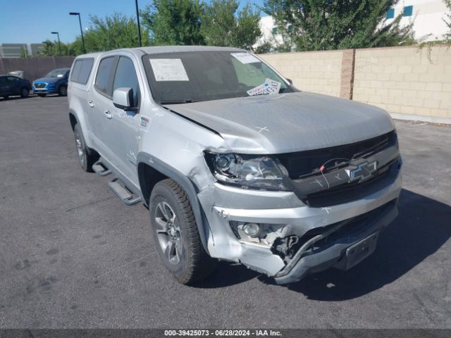
[[[340,268],[340,258],[349,246],[367,235],[386,227],[397,215],[396,201],[401,191],[402,178],[362,199],[336,206],[314,208],[306,206],[292,192],[263,192],[214,184],[199,192],[198,198],[204,210],[205,229],[210,256],[247,265],[252,270],[275,277],[279,284],[302,279],[309,273],[326,268]],[[389,205],[391,208],[381,208]],[[352,238],[338,238],[333,246],[302,256],[296,265],[286,271],[287,262],[271,248],[259,243],[245,242],[237,238],[230,223],[261,223],[288,226],[285,235],[302,237],[309,230],[328,227],[376,208],[383,211],[367,221]],[[285,269],[285,270],[284,270]]]

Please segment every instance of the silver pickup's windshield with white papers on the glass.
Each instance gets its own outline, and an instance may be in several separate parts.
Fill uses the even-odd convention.
[[[266,63],[247,52],[149,54],[142,60],[159,104],[294,92]]]

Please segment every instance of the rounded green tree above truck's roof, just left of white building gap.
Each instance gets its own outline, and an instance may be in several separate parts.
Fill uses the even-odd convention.
[[[201,32],[206,44],[252,49],[260,37],[260,15],[247,4],[237,11],[237,0],[212,0],[204,5]]]

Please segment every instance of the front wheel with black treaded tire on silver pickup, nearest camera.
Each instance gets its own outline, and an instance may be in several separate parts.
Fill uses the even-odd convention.
[[[168,225],[166,232],[162,231],[163,227],[161,226],[161,221],[164,223],[164,216],[161,212],[163,204],[168,204],[171,208],[169,211],[166,210],[168,215],[175,215],[173,225]],[[211,258],[204,250],[190,200],[180,185],[171,179],[158,182],[152,190],[149,205],[150,223],[156,250],[161,261],[175,280],[181,284],[192,284],[213,273],[218,261]],[[171,237],[169,227],[171,229],[178,228],[173,232],[175,233],[174,237],[178,236],[179,239],[176,239],[171,245],[171,248],[175,248],[173,250],[175,259],[174,257],[169,258],[171,255],[169,252],[172,251],[169,249],[169,242],[171,241],[171,239],[168,239]],[[165,238],[167,240],[166,246],[164,246]],[[163,247],[166,247],[166,249],[163,250]]]

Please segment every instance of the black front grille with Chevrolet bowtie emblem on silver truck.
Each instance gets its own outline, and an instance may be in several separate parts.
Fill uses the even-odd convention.
[[[402,163],[395,131],[354,144],[282,154],[278,159],[288,170],[295,194],[312,207],[344,204],[373,194],[395,181]],[[369,163],[376,165],[368,175],[350,174],[363,173],[362,166],[367,168]]]

